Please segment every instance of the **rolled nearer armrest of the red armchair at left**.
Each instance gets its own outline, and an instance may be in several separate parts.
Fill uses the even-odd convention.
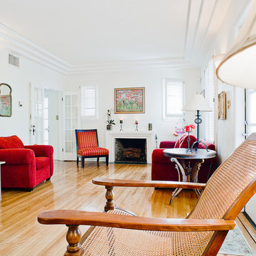
[[[31,164],[35,154],[31,149],[0,149],[0,161],[6,164]]]

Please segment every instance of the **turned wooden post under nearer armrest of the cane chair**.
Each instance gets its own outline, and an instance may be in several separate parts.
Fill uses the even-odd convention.
[[[66,235],[66,239],[68,241],[67,251],[65,252],[64,256],[79,256],[80,255],[80,239],[81,239],[81,232],[78,228],[78,225],[67,225],[68,232]]]

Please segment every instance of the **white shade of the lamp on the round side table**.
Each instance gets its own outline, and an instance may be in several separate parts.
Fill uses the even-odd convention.
[[[185,107],[183,107],[183,111],[197,111],[197,110],[200,110],[203,112],[212,111],[205,97],[203,97],[203,95],[199,93],[197,93],[196,95],[193,95],[193,97],[191,97],[191,99],[188,100]]]

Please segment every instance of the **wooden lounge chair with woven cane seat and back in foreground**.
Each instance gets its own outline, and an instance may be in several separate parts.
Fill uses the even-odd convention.
[[[256,191],[256,134],[215,171],[208,183],[121,181],[95,178],[107,188],[107,213],[52,210],[42,224],[68,225],[65,255],[217,255],[235,218]],[[146,218],[114,208],[114,186],[203,189],[186,219]],[[81,238],[79,225],[93,225]]]

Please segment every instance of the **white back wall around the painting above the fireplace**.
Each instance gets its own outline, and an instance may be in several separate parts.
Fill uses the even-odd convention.
[[[80,90],[80,85],[92,83],[99,86],[99,119],[82,120],[81,129],[98,129],[100,145],[105,146],[105,130],[107,110],[114,108],[114,88],[145,87],[144,114],[112,114],[117,123],[113,130],[119,130],[119,119],[124,120],[123,129],[134,130],[134,121],[139,121],[139,130],[148,130],[149,122],[153,123],[153,130],[162,140],[176,140],[173,136],[177,120],[164,122],[162,119],[162,79],[178,78],[185,82],[185,102],[196,92],[200,91],[200,69],[183,70],[137,70],[116,73],[93,73],[87,75],[68,76],[65,90]],[[194,114],[187,113],[188,124],[193,123]]]

